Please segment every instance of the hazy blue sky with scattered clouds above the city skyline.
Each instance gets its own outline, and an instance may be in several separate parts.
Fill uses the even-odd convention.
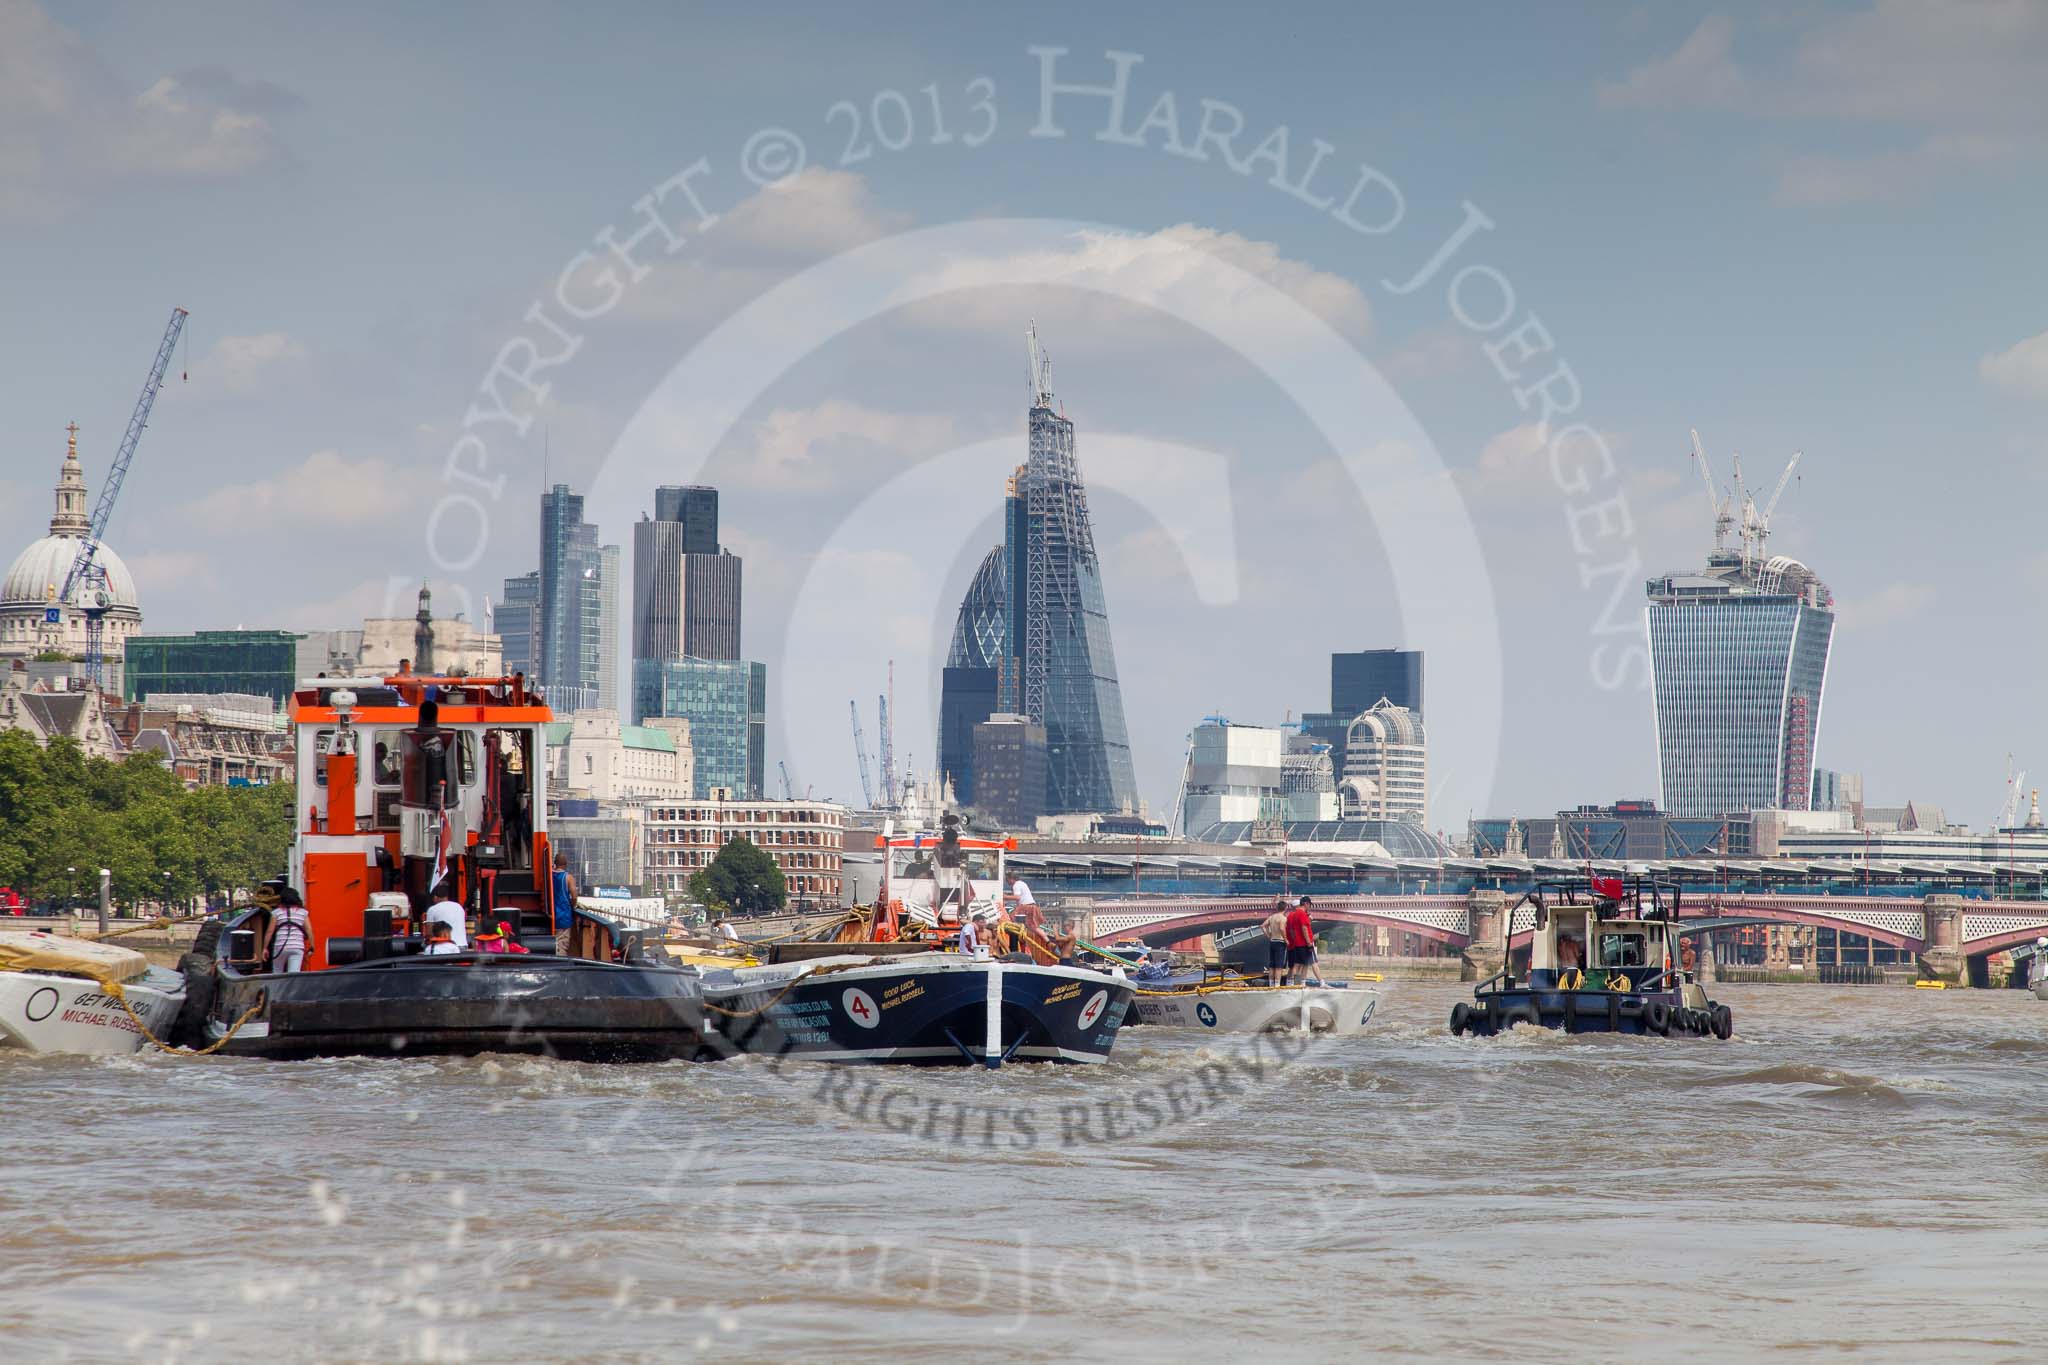
[[[1063,137],[1032,135],[1034,47],[1067,49],[1059,84],[1141,57],[1122,141],[1075,94],[1053,96]],[[98,481],[178,303],[190,379],[111,536],[152,628],[342,626],[422,575],[436,602],[481,602],[532,565],[543,444],[621,544],[645,485],[700,477],[748,555],[748,651],[776,669],[770,759],[846,796],[846,698],[870,710],[891,657],[897,747],[930,759],[934,604],[997,536],[1036,317],[1096,483],[1155,806],[1202,714],[1321,708],[1331,649],[1417,630],[1464,651],[1432,655],[1434,825],[1655,792],[1636,636],[1604,626],[1616,583],[1632,618],[1624,579],[1704,553],[1698,426],[1722,475],[1741,452],[1765,487],[1806,452],[1774,548],[1843,608],[1821,761],[1864,772],[1874,802],[1982,821],[2009,751],[2048,769],[2044,76],[2036,4],[0,0],[0,534],[47,520],[66,422]],[[1178,129],[1130,137],[1167,92]],[[1176,156],[1204,100],[1243,133]],[[1284,178],[1331,147],[1300,194],[1247,164],[1282,125]],[[805,147],[772,188],[741,168],[764,129]],[[575,356],[537,372],[545,401],[514,403],[524,432],[465,428],[500,348],[545,340],[528,307],[563,321],[578,254],[698,160],[688,188],[719,221],[664,199],[686,241],[647,246],[649,272],[575,323]],[[1341,201],[1360,164],[1382,180],[1358,221],[1393,217],[1399,186],[1386,231],[1305,203]],[[1466,205],[1491,227],[1427,287],[1391,289]],[[920,231],[940,254],[887,250]],[[864,248],[903,278],[825,332],[860,293],[829,266]],[[1485,272],[1460,321],[1466,266]],[[565,293],[594,299],[598,268]],[[1020,270],[1036,284],[1006,282]],[[895,301],[924,276],[944,291]],[[1501,282],[1507,321],[1475,327]],[[772,344],[719,332],[750,305]],[[1503,379],[1483,348],[1530,317],[1524,344],[1548,344],[1501,352],[1522,370]],[[1374,377],[1358,448],[1305,415],[1329,338]],[[688,393],[713,360],[782,350],[739,409]],[[1538,432],[1518,389],[1559,362],[1579,403]],[[1571,424],[1554,473],[1544,440]],[[465,432],[487,460],[471,483],[446,469]],[[1565,487],[1593,442],[1612,471]],[[451,553],[471,514],[453,495],[477,499],[481,548]]]

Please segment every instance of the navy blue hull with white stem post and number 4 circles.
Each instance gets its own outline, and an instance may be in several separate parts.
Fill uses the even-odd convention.
[[[989,1038],[989,974],[1001,972]],[[1102,1062],[1130,1009],[1128,982],[1028,964],[877,964],[705,976],[711,1046],[731,1054],[899,1066]]]

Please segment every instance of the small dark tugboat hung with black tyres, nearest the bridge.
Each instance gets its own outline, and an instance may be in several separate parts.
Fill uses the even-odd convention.
[[[1538,882],[1501,915],[1503,939],[1511,939],[1524,905],[1534,907],[1528,974],[1518,978],[1509,956],[1473,988],[1470,1005],[1452,1005],[1452,1033],[1491,1038],[1518,1023],[1567,1033],[1735,1033],[1735,1013],[1706,999],[1683,968],[1679,888],[1671,882]]]

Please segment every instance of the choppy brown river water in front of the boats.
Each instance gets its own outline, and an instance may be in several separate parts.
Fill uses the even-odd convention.
[[[2038,1361],[2048,1005],[1106,1066],[0,1054],[6,1361]]]

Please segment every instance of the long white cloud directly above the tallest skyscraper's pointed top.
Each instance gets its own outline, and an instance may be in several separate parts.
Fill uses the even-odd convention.
[[[1245,278],[1223,297],[1217,272],[1198,256],[1237,266]],[[1317,270],[1280,254],[1272,241],[1182,223],[1155,233],[1087,229],[1059,252],[981,256],[942,262],[915,284],[950,291],[911,313],[926,325],[948,329],[1014,327],[1020,315],[1016,278],[1051,278],[1071,291],[1032,287],[1032,311],[1053,332],[1133,325],[1133,305],[1180,311],[1192,317],[1229,317],[1229,336],[1290,338],[1303,319],[1294,305],[1350,338],[1372,332],[1364,293],[1343,276]],[[1143,325],[1143,323],[1139,323]]]

